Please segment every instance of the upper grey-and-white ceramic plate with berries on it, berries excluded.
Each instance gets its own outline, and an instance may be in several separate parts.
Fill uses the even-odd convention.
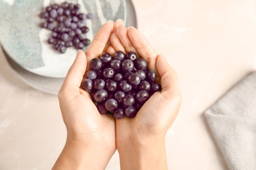
[[[63,0],[0,0],[0,41],[3,49],[20,67],[41,76],[64,77],[72,65],[77,50],[68,48],[60,54],[47,43],[51,31],[41,29],[39,13],[43,7]],[[79,3],[81,12],[92,13],[93,20],[86,20],[92,40],[96,31],[108,20],[126,22],[125,0],[70,0]],[[85,50],[85,49],[83,49]]]

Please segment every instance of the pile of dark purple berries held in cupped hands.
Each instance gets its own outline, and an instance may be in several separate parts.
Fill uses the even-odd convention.
[[[91,94],[100,114],[114,118],[133,118],[150,96],[161,91],[156,72],[148,70],[146,59],[135,52],[117,51],[114,57],[105,52],[91,59],[81,88]]]

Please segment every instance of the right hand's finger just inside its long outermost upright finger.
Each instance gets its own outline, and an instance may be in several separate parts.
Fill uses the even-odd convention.
[[[133,43],[128,37],[127,27],[125,27],[124,25],[119,25],[119,27],[117,27],[116,33],[121,41],[121,44],[123,45],[123,48],[125,48],[126,52],[135,52],[136,54],[138,54],[135,46],[133,46]]]

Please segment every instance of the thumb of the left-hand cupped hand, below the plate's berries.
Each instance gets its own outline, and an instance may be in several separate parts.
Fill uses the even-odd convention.
[[[87,59],[85,57],[85,53],[82,50],[79,50],[74,63],[68,70],[61,90],[75,91],[75,93],[78,93],[83,75],[85,74],[86,65]]]

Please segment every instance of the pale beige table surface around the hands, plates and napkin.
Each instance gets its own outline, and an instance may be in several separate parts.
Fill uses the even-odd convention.
[[[203,111],[256,69],[256,1],[133,1],[138,28],[179,75],[169,169],[227,169]],[[56,95],[22,81],[0,50],[0,169],[51,169],[66,138]],[[106,169],[119,169],[114,154]]]

